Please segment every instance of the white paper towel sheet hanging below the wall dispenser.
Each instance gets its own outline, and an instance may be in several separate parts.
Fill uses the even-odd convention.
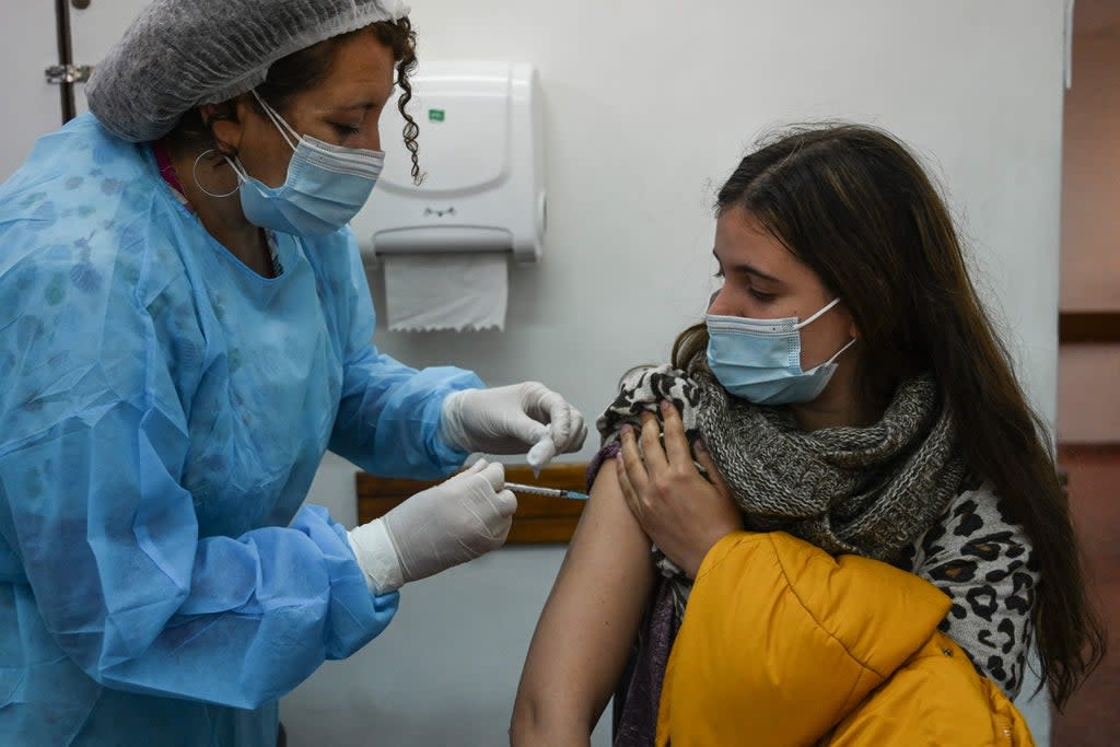
[[[390,254],[385,310],[393,332],[505,328],[507,253]]]

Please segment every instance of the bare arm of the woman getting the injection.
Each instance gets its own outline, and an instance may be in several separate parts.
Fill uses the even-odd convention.
[[[608,461],[529,647],[514,706],[515,744],[587,744],[622,676],[653,581],[650,540]]]

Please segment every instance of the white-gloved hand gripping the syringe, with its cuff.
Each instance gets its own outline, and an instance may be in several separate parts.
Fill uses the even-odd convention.
[[[502,547],[516,510],[505,467],[479,459],[347,535],[370,590],[388,594]]]

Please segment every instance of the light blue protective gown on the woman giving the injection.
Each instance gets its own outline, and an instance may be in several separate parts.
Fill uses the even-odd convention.
[[[349,230],[253,273],[92,115],[0,186],[0,743],[273,745],[277,700],[389,624],[327,448],[435,477],[458,368],[371,344]]]

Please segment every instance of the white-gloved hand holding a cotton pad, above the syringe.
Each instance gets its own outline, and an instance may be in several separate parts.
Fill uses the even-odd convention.
[[[535,381],[467,389],[444,400],[440,435],[465,451],[522,454],[540,469],[558,454],[584,446],[584,415]]]

